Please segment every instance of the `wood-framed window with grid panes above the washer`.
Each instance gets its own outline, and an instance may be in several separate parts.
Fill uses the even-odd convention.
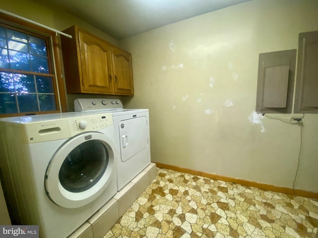
[[[66,112],[55,32],[10,16],[0,20],[0,117]]]

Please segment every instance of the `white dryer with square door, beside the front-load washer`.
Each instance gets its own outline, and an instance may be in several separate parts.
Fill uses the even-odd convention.
[[[76,112],[113,115],[117,161],[117,188],[122,189],[151,163],[148,109],[123,109],[119,99],[76,99]]]

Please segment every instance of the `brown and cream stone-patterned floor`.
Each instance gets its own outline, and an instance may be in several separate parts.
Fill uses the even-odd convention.
[[[315,238],[318,200],[157,168],[104,238]]]

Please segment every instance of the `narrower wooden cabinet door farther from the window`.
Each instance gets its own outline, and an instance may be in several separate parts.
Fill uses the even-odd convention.
[[[114,93],[120,95],[134,95],[131,54],[113,47],[112,57]]]

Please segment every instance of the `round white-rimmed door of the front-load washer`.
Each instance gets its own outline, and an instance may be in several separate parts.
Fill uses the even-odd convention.
[[[46,171],[45,189],[49,198],[65,208],[93,201],[115,176],[113,148],[113,141],[99,132],[85,132],[67,140]]]

